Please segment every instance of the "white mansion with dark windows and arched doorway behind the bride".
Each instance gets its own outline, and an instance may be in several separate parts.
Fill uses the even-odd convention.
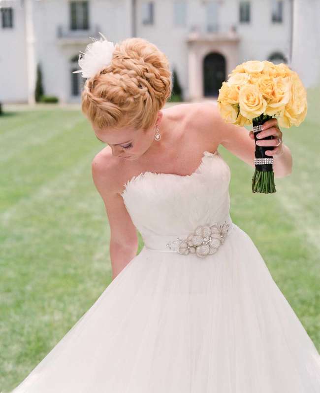
[[[241,62],[291,66],[293,20],[293,0],[0,0],[0,102],[32,103],[38,64],[46,95],[79,102],[84,79],[72,71],[98,32],[150,40],[185,100],[214,97]]]

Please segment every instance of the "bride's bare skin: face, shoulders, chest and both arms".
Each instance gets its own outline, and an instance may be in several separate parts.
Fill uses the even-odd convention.
[[[151,111],[145,108],[141,117],[145,119],[150,115]],[[219,144],[255,168],[253,131],[249,133],[250,140],[244,127],[226,124],[216,102],[180,104],[158,110],[156,120],[152,119],[151,127],[146,130],[124,126],[120,130],[106,131],[94,124],[93,129],[96,138],[107,144],[93,160],[92,173],[111,228],[113,278],[138,249],[136,228],[121,197],[127,179],[146,171],[189,176],[198,167],[202,152],[216,152]],[[292,170],[292,157],[288,146],[282,143],[282,132],[275,118],[264,124],[257,137],[269,135],[279,138],[281,143],[277,139],[259,143],[264,146],[278,144],[266,154],[274,157],[275,177],[288,176]]]

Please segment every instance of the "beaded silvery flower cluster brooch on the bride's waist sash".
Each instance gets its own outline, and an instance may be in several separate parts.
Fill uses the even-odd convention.
[[[210,226],[199,225],[186,239],[178,238],[179,241],[169,242],[166,247],[170,250],[177,248],[177,252],[183,255],[192,253],[203,258],[217,252],[224,243],[229,226],[226,221],[221,225],[218,225],[217,222]]]

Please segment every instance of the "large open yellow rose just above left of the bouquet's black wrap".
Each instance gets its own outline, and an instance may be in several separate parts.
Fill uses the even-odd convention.
[[[239,90],[240,113],[247,119],[260,116],[267,107],[266,100],[256,85],[244,85]]]

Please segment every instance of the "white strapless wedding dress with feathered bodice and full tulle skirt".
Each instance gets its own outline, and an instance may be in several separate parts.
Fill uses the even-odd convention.
[[[232,223],[229,181],[218,151],[192,175],[130,179],[143,249],[13,392],[319,393],[320,355]],[[209,254],[174,247],[215,222],[229,229]]]

